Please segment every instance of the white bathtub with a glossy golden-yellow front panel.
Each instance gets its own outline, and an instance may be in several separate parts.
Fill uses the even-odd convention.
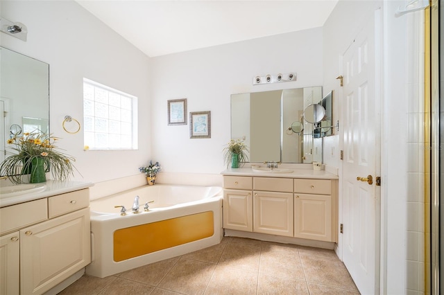
[[[139,213],[131,209],[136,195]],[[92,263],[87,274],[103,278],[219,244],[222,199],[220,187],[166,184],[95,199],[90,202]],[[114,206],[125,206],[126,214]]]

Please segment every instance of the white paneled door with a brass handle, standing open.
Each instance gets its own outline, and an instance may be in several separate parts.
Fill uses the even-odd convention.
[[[379,13],[343,55],[343,262],[361,294],[379,293]]]

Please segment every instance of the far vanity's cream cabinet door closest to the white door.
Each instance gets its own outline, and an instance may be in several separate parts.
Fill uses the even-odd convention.
[[[332,196],[294,194],[294,236],[334,242],[332,239]]]

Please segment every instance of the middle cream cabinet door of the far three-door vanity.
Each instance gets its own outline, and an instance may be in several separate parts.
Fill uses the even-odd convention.
[[[253,193],[253,231],[293,237],[293,194]]]

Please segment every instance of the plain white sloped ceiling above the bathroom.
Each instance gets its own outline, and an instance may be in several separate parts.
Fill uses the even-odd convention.
[[[78,0],[150,57],[323,26],[338,0]]]

